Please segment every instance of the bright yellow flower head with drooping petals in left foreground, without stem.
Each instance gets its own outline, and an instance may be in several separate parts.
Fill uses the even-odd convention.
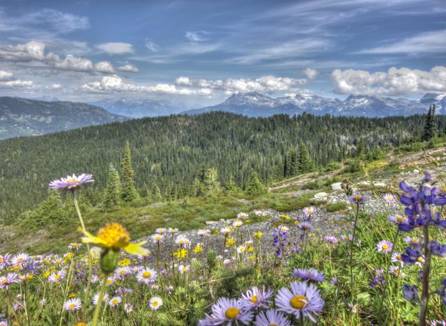
[[[99,229],[98,236],[96,237],[88,232],[85,235],[82,238],[82,242],[94,244],[104,249],[113,249],[114,251],[124,249],[129,254],[140,256],[146,256],[150,252],[142,247],[146,243],[145,241],[130,243],[128,231],[118,223],[106,224],[105,227]]]

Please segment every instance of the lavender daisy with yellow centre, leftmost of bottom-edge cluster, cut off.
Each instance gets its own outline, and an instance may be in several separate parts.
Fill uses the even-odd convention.
[[[249,325],[254,318],[254,312],[247,309],[245,300],[220,297],[212,306],[212,313],[206,319],[213,320],[213,325]]]

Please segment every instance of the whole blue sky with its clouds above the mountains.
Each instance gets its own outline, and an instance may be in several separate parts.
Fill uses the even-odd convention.
[[[444,0],[1,1],[0,95],[446,93]]]

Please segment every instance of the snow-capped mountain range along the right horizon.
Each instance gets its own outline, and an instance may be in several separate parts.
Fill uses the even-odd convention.
[[[427,93],[420,100],[382,98],[370,95],[350,95],[346,100],[323,98],[312,94],[270,98],[257,92],[231,95],[226,101],[184,111],[184,114],[202,114],[210,111],[226,111],[245,116],[273,116],[274,114],[331,114],[333,116],[411,116],[425,114],[429,105],[436,104],[437,114],[446,114],[446,94]]]

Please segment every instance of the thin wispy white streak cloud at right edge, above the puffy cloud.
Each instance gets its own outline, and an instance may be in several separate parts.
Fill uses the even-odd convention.
[[[389,45],[363,49],[360,54],[418,54],[418,53],[445,53],[446,29],[420,33]]]

